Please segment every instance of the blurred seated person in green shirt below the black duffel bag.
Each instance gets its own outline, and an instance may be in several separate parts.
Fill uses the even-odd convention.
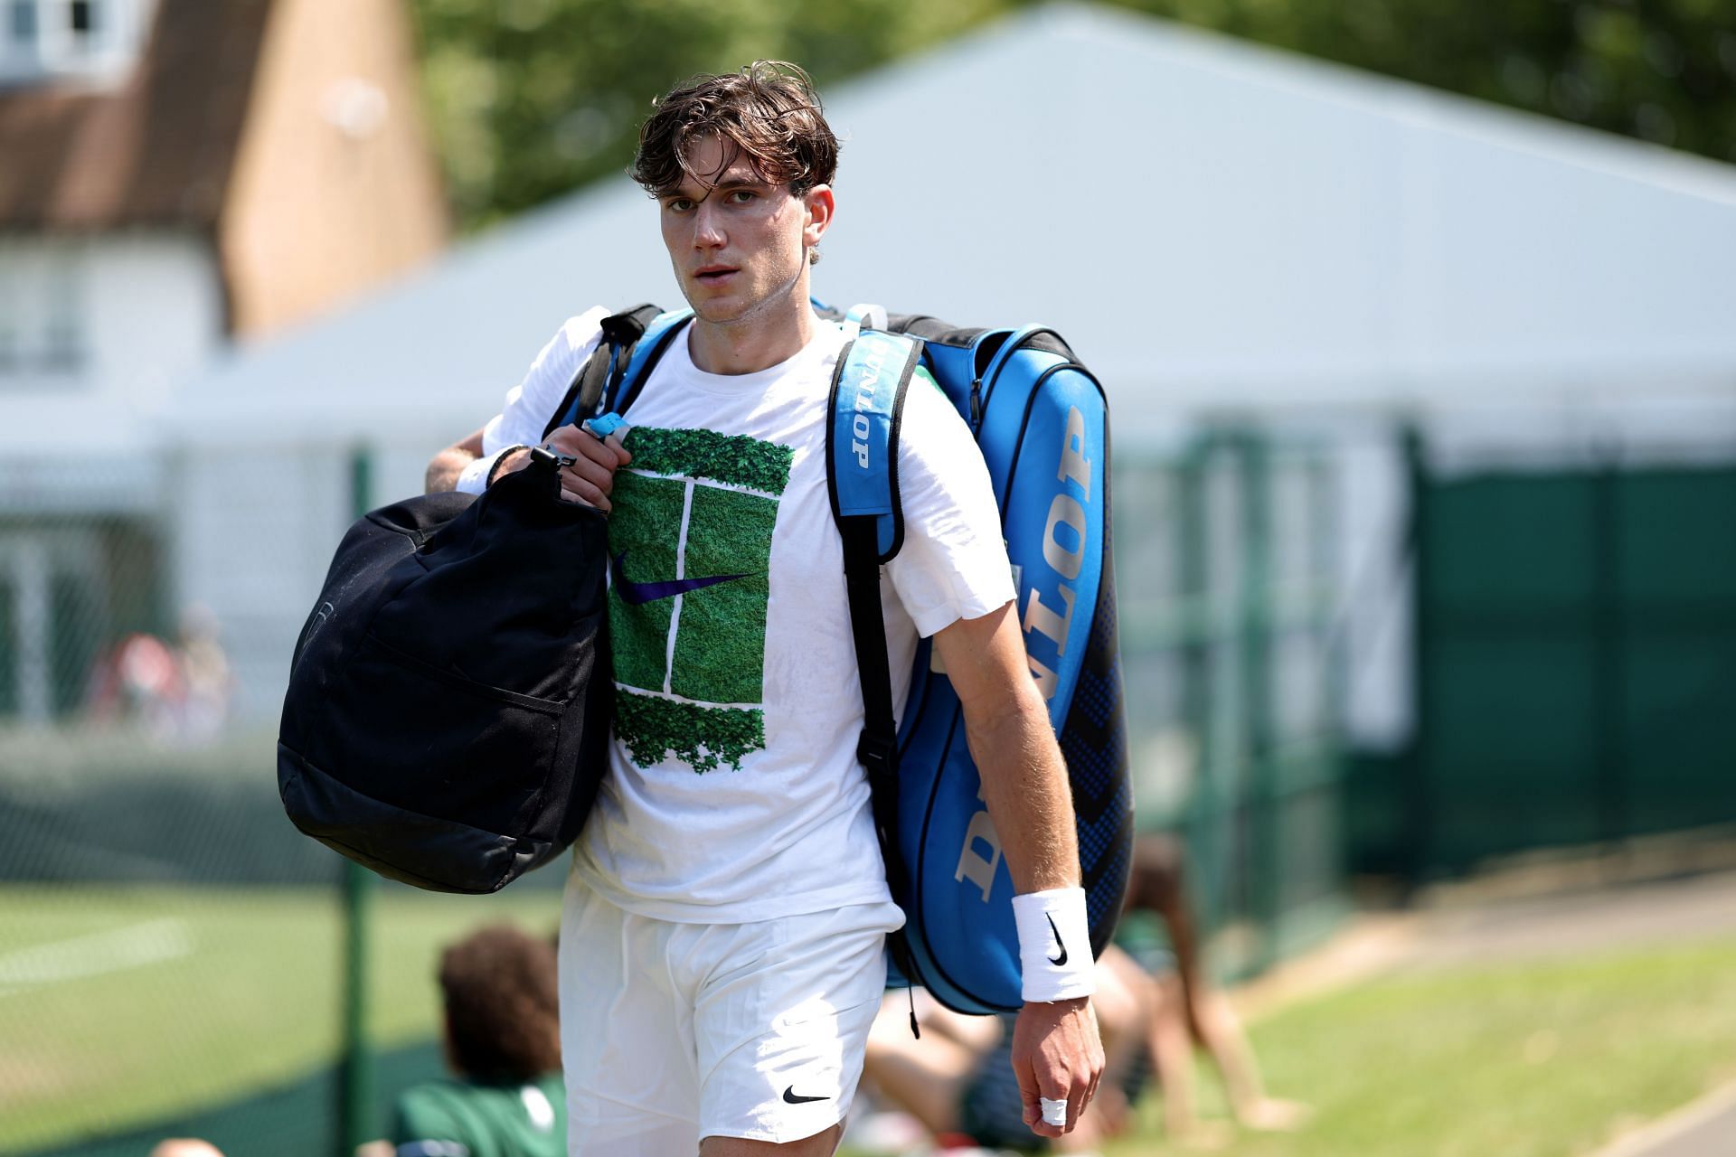
[[[391,1141],[358,1157],[559,1157],[566,1093],[556,949],[509,925],[470,933],[439,963],[448,1081],[398,1098]]]

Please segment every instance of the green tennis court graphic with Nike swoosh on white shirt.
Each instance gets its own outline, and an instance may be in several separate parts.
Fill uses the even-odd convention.
[[[740,768],[766,746],[766,602],[788,446],[635,427],[615,477],[615,734],[634,763]]]

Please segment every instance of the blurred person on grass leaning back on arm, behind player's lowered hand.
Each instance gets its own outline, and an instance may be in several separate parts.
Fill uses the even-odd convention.
[[[1080,1124],[1054,1141],[1061,1152],[1097,1148],[1123,1133],[1130,1105],[1153,1075],[1163,1089],[1163,1121],[1172,1138],[1200,1147],[1227,1143],[1233,1129],[1226,1122],[1203,1122],[1196,1115],[1194,1046],[1217,1067],[1231,1112],[1245,1128],[1293,1129],[1309,1114],[1304,1105],[1266,1096],[1234,1010],[1200,970],[1182,859],[1172,836],[1141,836],[1134,843],[1125,907],[1134,951],[1113,944],[1104,951],[1092,997],[1104,1077]],[[1149,925],[1141,914],[1156,918],[1156,926],[1141,926]],[[1167,937],[1167,949],[1154,931]],[[865,1079],[878,1100],[908,1112],[941,1141],[1049,1152],[1050,1141],[1023,1121],[1010,1027],[995,1016],[953,1013],[922,994],[917,1018],[924,1032],[915,1039],[904,999],[889,992],[868,1036]]]

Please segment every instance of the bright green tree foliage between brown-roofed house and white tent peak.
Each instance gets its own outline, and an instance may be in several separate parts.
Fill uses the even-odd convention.
[[[632,161],[651,97],[694,73],[799,61],[828,82],[953,36],[1002,0],[413,0],[424,90],[474,229]]]

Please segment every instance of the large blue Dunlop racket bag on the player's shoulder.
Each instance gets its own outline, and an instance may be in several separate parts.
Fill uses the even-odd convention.
[[[1012,1011],[1019,940],[1012,878],[983,803],[958,697],[917,650],[903,722],[892,730],[880,565],[903,543],[898,427],[920,364],[970,425],[988,463],[1017,586],[1031,677],[1049,704],[1076,814],[1092,956],[1127,892],[1132,789],[1109,553],[1109,411],[1102,385],[1054,330],[958,330],[934,317],[866,323],[838,357],[830,484],[844,534],[861,666],[859,756],[892,895],[904,909],[892,959],[904,980],[963,1013]],[[878,328],[875,328],[878,326]]]

